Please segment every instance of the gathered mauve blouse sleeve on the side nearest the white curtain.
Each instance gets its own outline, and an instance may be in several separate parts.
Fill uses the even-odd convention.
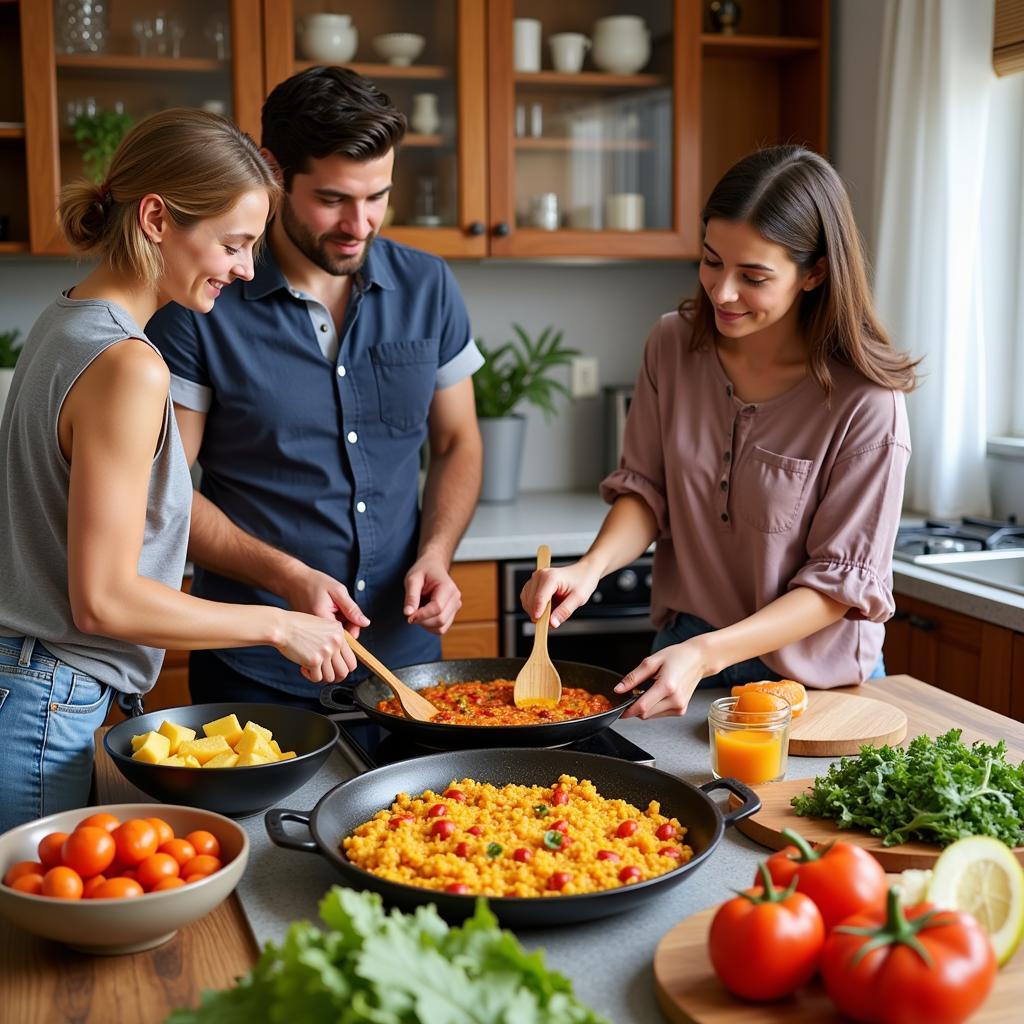
[[[890,435],[837,461],[791,590],[810,587],[849,605],[847,618],[892,616],[892,555],[909,457],[909,445]]]

